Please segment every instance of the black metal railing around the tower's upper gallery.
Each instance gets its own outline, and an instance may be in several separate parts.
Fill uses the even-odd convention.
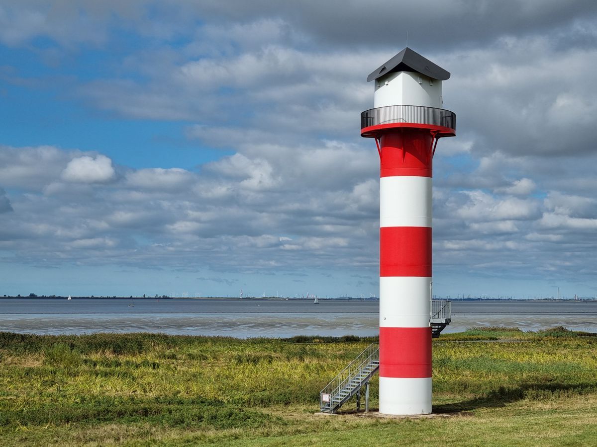
[[[456,130],[456,113],[424,105],[386,105],[361,113],[361,129],[392,123],[428,124]]]

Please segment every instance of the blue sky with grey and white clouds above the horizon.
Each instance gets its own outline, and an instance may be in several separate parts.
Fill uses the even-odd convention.
[[[0,0],[0,294],[377,294],[407,31],[457,114],[434,292],[595,296],[594,0]]]

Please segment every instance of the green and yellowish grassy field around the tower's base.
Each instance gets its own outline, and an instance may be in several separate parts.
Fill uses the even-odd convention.
[[[316,414],[374,341],[0,333],[0,445],[597,445],[596,336],[446,334],[433,340],[446,417]]]

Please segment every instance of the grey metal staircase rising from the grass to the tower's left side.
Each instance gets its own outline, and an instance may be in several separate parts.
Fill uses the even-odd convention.
[[[379,344],[371,343],[334,380],[319,393],[322,413],[335,413],[348,399],[356,396],[356,408],[361,406],[361,389],[365,387],[365,411],[369,411],[369,381],[379,369]]]

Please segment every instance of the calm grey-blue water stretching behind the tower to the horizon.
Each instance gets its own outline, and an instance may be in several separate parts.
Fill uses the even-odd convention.
[[[378,302],[270,300],[0,299],[0,331],[34,334],[160,332],[232,337],[374,336]],[[597,331],[597,301],[452,303],[444,333],[472,326]]]

